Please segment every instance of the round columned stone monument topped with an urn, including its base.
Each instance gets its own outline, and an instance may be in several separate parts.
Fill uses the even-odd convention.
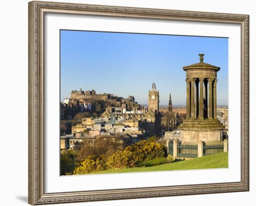
[[[217,119],[217,72],[220,67],[203,62],[184,66],[187,82],[186,119],[178,127],[182,142],[222,141],[224,126]]]

